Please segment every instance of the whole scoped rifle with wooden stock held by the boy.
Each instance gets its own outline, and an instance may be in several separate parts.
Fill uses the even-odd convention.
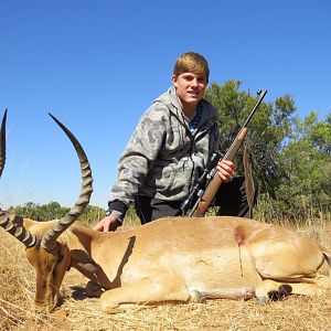
[[[222,160],[233,161],[239,147],[243,145],[248,132],[248,124],[254,113],[256,111],[261,100],[264,99],[265,95],[267,94],[267,90],[259,89],[257,94],[259,95],[257,103],[255,104],[253,110],[248,115],[242,129],[239,130],[238,135],[236,136],[235,140],[232,142],[231,147],[228,148],[228,150],[226,151]],[[197,179],[193,190],[189,194],[189,197],[182,203],[181,211],[183,215],[188,213],[189,209],[193,204],[193,201],[196,200],[188,215],[190,217],[193,215],[197,217],[204,216],[207,207],[212,203],[215,194],[217,193],[222,184],[221,177],[215,175],[217,173],[216,164],[218,163],[220,160],[221,160],[221,154],[218,152],[215,152],[212,156],[207,167],[204,169],[202,175]]]

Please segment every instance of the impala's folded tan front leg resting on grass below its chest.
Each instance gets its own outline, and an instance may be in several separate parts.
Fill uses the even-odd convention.
[[[195,293],[193,293],[195,296]],[[102,309],[114,313],[134,305],[158,305],[166,301],[188,302],[191,299],[184,284],[178,279],[143,278],[132,284],[105,291],[102,297]]]

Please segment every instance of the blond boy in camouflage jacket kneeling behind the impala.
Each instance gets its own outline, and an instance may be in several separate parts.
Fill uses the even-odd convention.
[[[119,159],[107,216],[95,229],[115,231],[130,204],[142,224],[181,214],[182,202],[218,149],[216,111],[203,98],[209,76],[202,55],[189,52],[177,60],[172,87],[143,114]],[[221,214],[249,216],[245,180],[234,179],[234,163],[218,162],[217,175],[224,183],[221,202],[216,199]]]

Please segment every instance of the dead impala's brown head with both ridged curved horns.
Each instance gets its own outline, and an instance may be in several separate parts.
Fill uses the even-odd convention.
[[[68,247],[57,238],[83,213],[93,192],[92,170],[81,143],[63,124],[51,114],[50,116],[70,138],[79,159],[82,190],[77,202],[63,218],[40,223],[0,210],[0,226],[25,245],[28,260],[35,269],[35,307],[47,311],[57,303],[60,286],[72,260]],[[0,131],[0,175],[6,163],[6,120],[7,110]]]

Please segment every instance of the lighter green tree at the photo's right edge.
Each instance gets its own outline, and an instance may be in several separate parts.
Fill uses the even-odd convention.
[[[290,217],[311,217],[331,211],[331,121],[311,113],[296,118],[292,136],[284,147],[281,168],[287,173],[277,196]]]

